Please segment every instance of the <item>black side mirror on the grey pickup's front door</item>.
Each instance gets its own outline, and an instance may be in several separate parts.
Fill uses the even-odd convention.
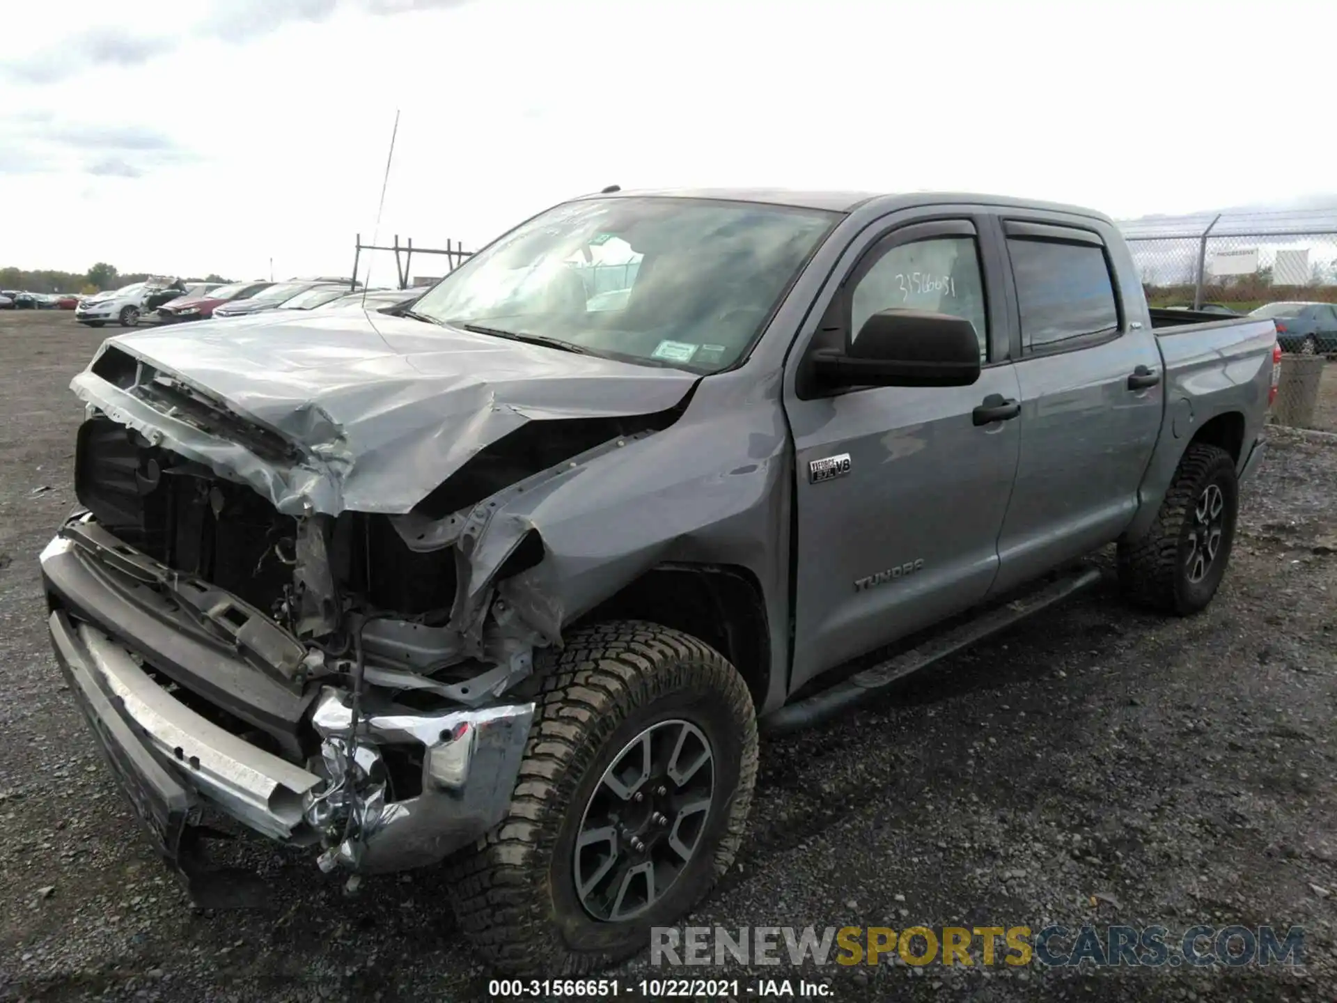
[[[848,349],[813,356],[828,386],[969,386],[980,378],[980,341],[963,317],[882,310]]]

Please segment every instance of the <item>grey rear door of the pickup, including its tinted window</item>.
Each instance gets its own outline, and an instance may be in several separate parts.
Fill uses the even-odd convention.
[[[1134,290],[1119,289],[1100,227],[1029,215],[995,229],[1020,332],[1021,444],[993,592],[1114,540],[1161,432],[1161,349]]]

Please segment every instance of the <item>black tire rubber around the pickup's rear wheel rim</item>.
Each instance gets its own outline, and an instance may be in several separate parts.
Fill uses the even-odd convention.
[[[1198,499],[1210,484],[1217,484],[1225,496],[1221,547],[1206,576],[1191,582],[1186,563],[1189,535]],[[1139,539],[1119,542],[1119,584],[1124,595],[1139,606],[1178,617],[1206,607],[1230,563],[1238,512],[1239,484],[1230,453],[1205,443],[1190,445],[1151,528]]]

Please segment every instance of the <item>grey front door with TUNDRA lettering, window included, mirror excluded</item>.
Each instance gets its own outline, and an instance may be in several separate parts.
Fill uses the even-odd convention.
[[[1003,263],[985,269],[979,217],[901,218],[856,241],[817,302],[821,322],[814,318],[790,356],[794,687],[977,602],[997,571],[1019,431],[1013,420],[976,424],[973,412],[991,396],[1017,397]],[[979,382],[828,395],[805,388],[804,360],[813,350],[842,344],[889,308],[971,320],[984,358]]]

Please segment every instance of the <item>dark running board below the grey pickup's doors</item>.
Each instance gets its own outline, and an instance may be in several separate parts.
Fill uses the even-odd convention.
[[[976,619],[967,621],[944,634],[929,638],[919,647],[901,651],[885,662],[856,673],[848,679],[836,683],[829,690],[814,693],[812,697],[794,703],[786,703],[774,714],[763,717],[758,723],[767,734],[787,734],[824,723],[842,710],[848,710],[865,699],[884,693],[897,679],[910,673],[917,673],[933,662],[939,662],[992,634],[1012,627],[1032,614],[1040,612],[1078,592],[1083,592],[1099,584],[1102,578],[1100,568],[1095,567],[1082,567],[1068,572],[1054,582],[1040,586],[1034,592],[1004,603],[995,610],[989,610]]]

